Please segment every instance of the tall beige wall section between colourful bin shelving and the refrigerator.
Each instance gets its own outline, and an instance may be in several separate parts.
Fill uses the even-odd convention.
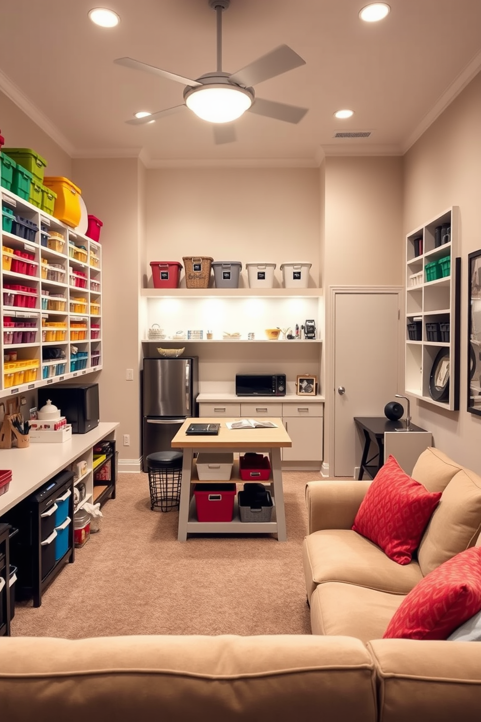
[[[119,421],[120,460],[140,458],[140,384],[138,373],[140,289],[138,186],[136,158],[74,160],[72,180],[87,210],[102,220],[102,365],[100,418]],[[133,369],[133,381],[125,370]],[[122,445],[123,434],[131,445]]]

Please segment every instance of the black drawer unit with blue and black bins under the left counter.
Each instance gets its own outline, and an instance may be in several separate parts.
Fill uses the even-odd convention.
[[[10,542],[10,562],[17,567],[15,599],[33,597],[33,606],[42,604],[43,591],[63,565],[74,562],[73,523],[69,524],[66,552],[56,560],[60,508],[63,519],[69,516],[73,520],[74,472],[70,470],[61,471],[2,518],[18,529]]]

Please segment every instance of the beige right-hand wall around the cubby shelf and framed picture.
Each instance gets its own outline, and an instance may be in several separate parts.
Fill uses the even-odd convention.
[[[422,401],[413,421],[433,432],[434,444],[478,473],[481,418],[467,412],[467,254],[481,248],[481,74],[405,155],[404,233],[451,205],[459,206],[462,258],[459,412]]]

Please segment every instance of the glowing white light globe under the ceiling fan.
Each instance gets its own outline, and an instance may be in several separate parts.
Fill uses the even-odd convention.
[[[184,97],[187,108],[209,123],[237,120],[254,100],[252,93],[244,88],[213,85],[189,88]]]

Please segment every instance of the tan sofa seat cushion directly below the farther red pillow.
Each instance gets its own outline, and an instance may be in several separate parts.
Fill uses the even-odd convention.
[[[307,598],[318,584],[347,582],[394,594],[407,594],[423,578],[418,562],[401,566],[351,529],[322,529],[303,547]]]

